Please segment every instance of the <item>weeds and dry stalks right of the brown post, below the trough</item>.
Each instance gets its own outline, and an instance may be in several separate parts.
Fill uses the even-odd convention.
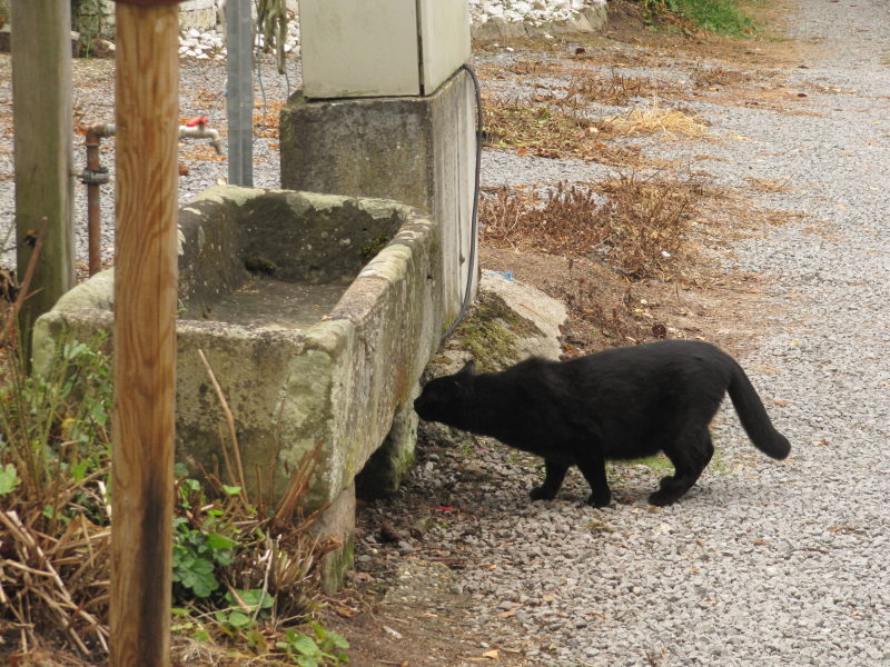
[[[307,527],[314,517],[303,518],[296,510],[297,494],[319,451],[304,459],[295,490],[275,510],[251,505],[241,486],[210,474],[199,482],[177,466],[174,597],[182,617],[176,624],[179,633],[231,649],[246,646],[263,659],[296,660],[275,643],[286,638],[281,626],[310,616],[312,573],[318,558],[336,546],[310,537]],[[325,637],[320,628],[318,646],[327,646]],[[332,650],[325,653],[335,655]]]

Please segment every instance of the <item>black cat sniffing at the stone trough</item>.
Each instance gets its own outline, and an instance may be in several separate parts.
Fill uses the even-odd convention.
[[[556,496],[570,466],[591,485],[587,502],[609,505],[607,459],[664,451],[674,475],[649,497],[670,505],[685,494],[714,452],[708,429],[729,391],[751,441],[783,459],[791,445],[773,428],[751,381],[719,348],[662,340],[568,361],[533,357],[502,372],[476,375],[469,361],[431,380],[414,401],[422,419],[441,421],[544,457],[544,484],[532,499]]]

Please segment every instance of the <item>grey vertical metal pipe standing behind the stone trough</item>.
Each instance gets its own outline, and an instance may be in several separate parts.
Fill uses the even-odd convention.
[[[226,110],[229,125],[229,183],[248,188],[254,185],[253,39],[250,0],[228,0]]]

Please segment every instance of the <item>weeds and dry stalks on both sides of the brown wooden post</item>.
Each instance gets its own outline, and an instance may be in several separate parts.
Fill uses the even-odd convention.
[[[20,628],[24,653],[38,638],[85,659],[108,651],[112,380],[105,344],[63,339],[42,376],[27,375],[12,347],[0,356],[0,633]],[[180,468],[172,552],[180,631],[290,659],[274,638],[307,618],[315,566],[338,546],[310,536],[317,515],[298,510],[318,456],[304,458],[274,508],[250,505],[243,486],[210,475],[199,482]]]

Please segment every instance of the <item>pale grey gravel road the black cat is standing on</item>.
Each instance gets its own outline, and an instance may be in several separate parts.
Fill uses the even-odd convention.
[[[698,102],[712,133],[745,140],[683,150],[721,158],[708,162],[719,183],[788,182],[752,196],[805,213],[740,242],[733,267],[769,277],[784,309],[742,362],[791,458],[759,456],[728,410],[721,461],[678,505],[646,506],[652,476],[617,481],[619,504],[596,510],[528,505],[531,477],[484,454],[485,505],[427,540],[455,551],[468,541],[491,565],[467,568],[462,590],[482,631],[537,644],[531,664],[890,665],[890,6],[790,4],[792,34],[815,44],[805,68],[784,72],[808,91],[809,112]],[[488,183],[590,169],[508,153],[485,166]],[[577,500],[585,488],[574,484],[563,496]]]

